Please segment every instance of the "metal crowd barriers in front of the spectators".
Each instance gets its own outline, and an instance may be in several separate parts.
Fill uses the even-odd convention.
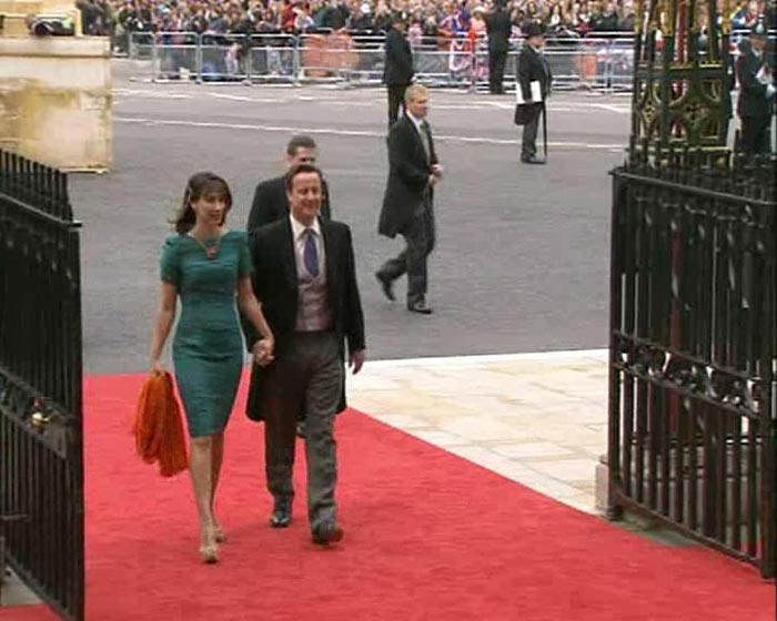
[[[545,55],[556,89],[603,92],[629,91],[634,38],[626,33],[604,37],[549,37]],[[773,39],[774,39],[774,33]],[[739,38],[741,33],[735,33]],[[149,60],[152,81],[379,84],[383,75],[384,37],[316,32],[301,35],[215,34],[196,32],[134,32],[130,58]],[[505,81],[515,75],[523,39],[512,41]],[[736,53],[736,49],[733,49]],[[477,90],[488,82],[487,39],[451,39],[441,44],[416,43],[413,60],[418,82],[433,86]]]

